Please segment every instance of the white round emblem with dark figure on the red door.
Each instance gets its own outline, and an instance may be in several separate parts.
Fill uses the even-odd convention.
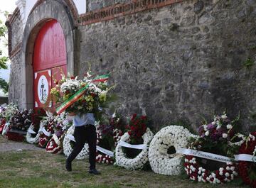
[[[46,76],[42,75],[38,79],[38,98],[42,104],[46,103],[49,94],[49,86]]]

